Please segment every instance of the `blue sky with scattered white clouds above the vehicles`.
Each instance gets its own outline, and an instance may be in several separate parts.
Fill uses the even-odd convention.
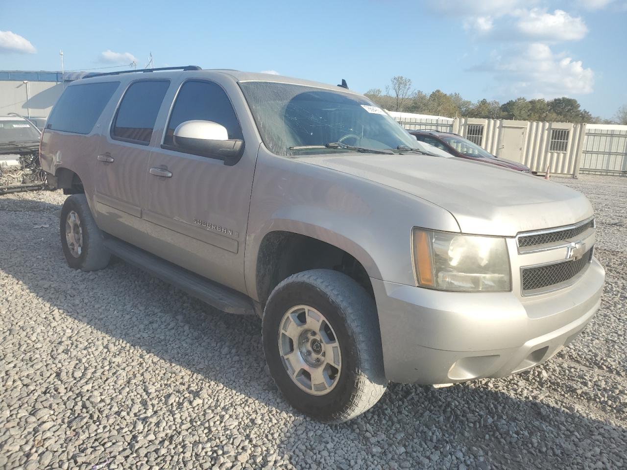
[[[152,53],[361,93],[403,75],[473,102],[567,96],[611,118],[627,104],[626,25],[627,0],[0,0],[0,70],[60,70],[61,49],[66,71]]]

